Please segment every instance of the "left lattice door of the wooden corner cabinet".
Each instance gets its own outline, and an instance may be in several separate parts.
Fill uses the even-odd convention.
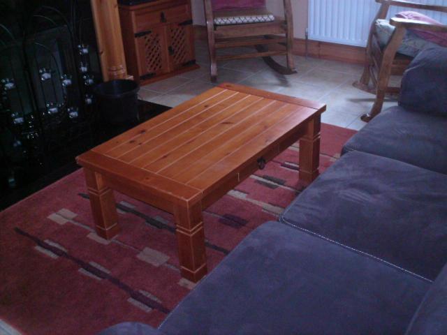
[[[135,34],[140,80],[169,72],[166,29],[163,26]]]

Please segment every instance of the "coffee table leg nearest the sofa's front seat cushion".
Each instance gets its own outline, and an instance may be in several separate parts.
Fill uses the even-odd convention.
[[[194,283],[207,274],[205,233],[203,231],[202,205],[175,207],[174,210],[180,271]]]

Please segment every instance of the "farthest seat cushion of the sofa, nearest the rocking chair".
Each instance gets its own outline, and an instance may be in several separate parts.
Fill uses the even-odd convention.
[[[342,154],[353,150],[447,174],[447,117],[391,107],[351,137]]]

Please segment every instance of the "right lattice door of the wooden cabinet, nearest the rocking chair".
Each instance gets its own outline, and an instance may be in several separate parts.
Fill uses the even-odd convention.
[[[169,55],[173,70],[196,63],[191,21],[169,24]]]

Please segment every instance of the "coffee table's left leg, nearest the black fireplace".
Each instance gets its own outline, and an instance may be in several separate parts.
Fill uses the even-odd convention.
[[[86,168],[84,168],[84,173],[96,234],[104,239],[111,239],[119,233],[118,214],[113,191],[105,185],[101,174]]]

